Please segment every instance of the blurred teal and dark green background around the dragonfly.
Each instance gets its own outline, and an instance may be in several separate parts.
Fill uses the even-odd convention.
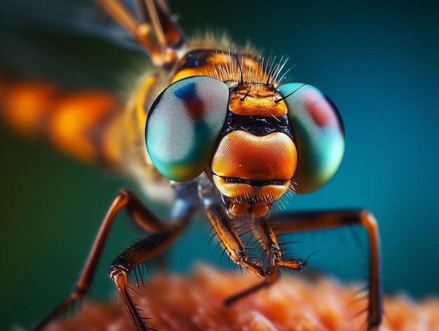
[[[314,194],[293,196],[287,208],[372,210],[381,229],[384,288],[415,299],[439,292],[439,6],[433,2],[170,3],[188,35],[209,27],[229,32],[237,43],[250,40],[266,54],[288,55],[293,80],[313,81],[330,95],[346,128],[344,161],[330,184]],[[67,52],[86,64],[81,68],[95,64],[104,77],[108,68],[112,75],[123,72],[119,65],[124,60],[128,76],[139,65],[137,55],[124,55],[93,39],[61,39],[81,46]],[[50,47],[45,43],[44,48],[58,48],[52,37],[45,40]],[[104,50],[112,51],[102,55]],[[68,294],[116,192],[139,189],[42,143],[15,137],[4,126],[0,148],[0,330],[8,330],[13,323],[31,326]],[[166,215],[166,208],[151,209]],[[113,295],[107,266],[141,237],[120,218],[98,268],[92,293],[97,297]],[[210,226],[199,224],[170,250],[173,269],[189,271],[200,260],[221,260],[228,266],[219,250],[212,254],[216,243],[208,245]],[[367,272],[361,231],[292,238],[299,241],[290,246],[295,255],[316,252],[311,269],[346,281]]]

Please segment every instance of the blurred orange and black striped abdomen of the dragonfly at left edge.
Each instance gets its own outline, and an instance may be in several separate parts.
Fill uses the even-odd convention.
[[[0,77],[0,117],[6,125],[81,161],[119,166],[122,151],[114,127],[122,114],[123,104],[106,92]]]

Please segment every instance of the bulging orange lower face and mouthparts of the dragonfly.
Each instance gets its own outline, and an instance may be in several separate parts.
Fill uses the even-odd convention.
[[[253,216],[260,217],[288,190],[296,165],[295,144],[285,133],[256,136],[238,130],[219,142],[212,158],[212,179],[224,196],[233,199],[229,205],[231,214],[241,216],[250,209]],[[255,187],[230,179],[267,183]],[[270,183],[271,180],[281,182]]]

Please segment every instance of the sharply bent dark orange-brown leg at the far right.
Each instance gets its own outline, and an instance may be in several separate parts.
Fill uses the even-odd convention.
[[[327,210],[316,212],[297,212],[276,215],[270,219],[276,234],[297,231],[330,229],[359,224],[369,237],[369,303],[367,305],[368,330],[377,330],[382,315],[381,250],[378,224],[367,210]]]

